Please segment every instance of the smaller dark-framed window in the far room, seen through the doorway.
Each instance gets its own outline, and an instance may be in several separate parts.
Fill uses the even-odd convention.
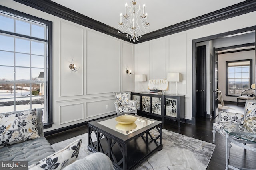
[[[226,61],[226,95],[240,96],[252,84],[252,59]]]

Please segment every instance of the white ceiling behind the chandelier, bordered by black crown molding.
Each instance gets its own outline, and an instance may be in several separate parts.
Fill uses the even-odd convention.
[[[124,5],[132,0],[52,0],[117,29]],[[136,0],[145,4],[150,32],[186,21],[245,0]]]

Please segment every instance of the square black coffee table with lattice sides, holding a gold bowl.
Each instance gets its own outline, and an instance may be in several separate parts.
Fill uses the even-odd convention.
[[[88,123],[88,150],[106,154],[116,169],[132,170],[162,150],[162,122],[129,114],[137,120],[122,125],[115,120],[120,115]]]

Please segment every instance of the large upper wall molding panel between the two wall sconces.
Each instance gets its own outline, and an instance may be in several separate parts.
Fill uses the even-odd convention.
[[[96,31],[86,41],[86,95],[120,91],[120,41]]]

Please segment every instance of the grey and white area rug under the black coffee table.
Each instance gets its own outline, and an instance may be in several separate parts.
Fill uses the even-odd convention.
[[[88,133],[52,145],[58,151],[82,139],[78,159],[92,154],[87,150]],[[136,170],[206,170],[215,145],[172,131],[162,130],[163,149],[153,154]]]

